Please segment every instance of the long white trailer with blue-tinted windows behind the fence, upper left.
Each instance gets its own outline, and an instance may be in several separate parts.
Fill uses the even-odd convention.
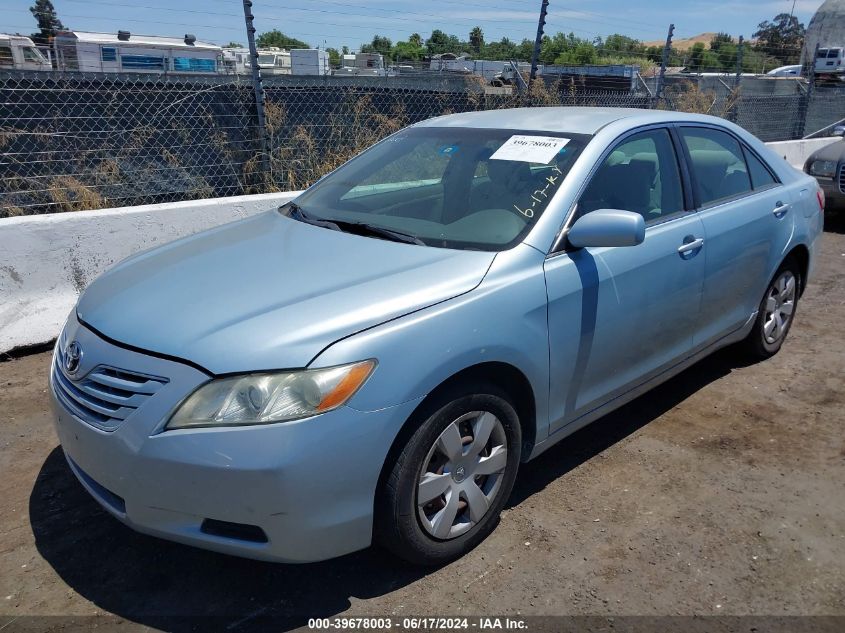
[[[223,49],[184,38],[158,35],[62,31],[53,39],[59,70],[97,73],[211,75],[218,72]]]

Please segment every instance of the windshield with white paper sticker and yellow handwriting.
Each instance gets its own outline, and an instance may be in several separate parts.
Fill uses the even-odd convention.
[[[543,214],[590,138],[409,128],[330,173],[296,204],[309,218],[390,229],[428,246],[505,250]]]

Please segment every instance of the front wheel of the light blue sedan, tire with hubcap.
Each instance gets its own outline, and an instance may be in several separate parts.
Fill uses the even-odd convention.
[[[411,563],[440,565],[470,551],[496,527],[519,469],[519,418],[499,388],[468,384],[436,396],[411,422],[414,430],[386,466],[390,471],[377,495],[376,540]],[[420,494],[432,498],[418,506]]]

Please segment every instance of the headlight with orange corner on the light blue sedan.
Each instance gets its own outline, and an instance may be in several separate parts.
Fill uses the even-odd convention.
[[[325,413],[349,400],[375,366],[374,360],[365,360],[212,380],[182,403],[166,428],[269,424]]]

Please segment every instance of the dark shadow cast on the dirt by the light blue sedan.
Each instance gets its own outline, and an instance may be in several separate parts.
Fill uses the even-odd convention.
[[[567,438],[523,467],[509,506],[740,364],[731,350],[723,350]],[[350,598],[381,596],[431,572],[377,549],[323,563],[281,565],[135,533],[94,502],[60,448],[41,468],[29,515],[39,553],[69,587],[103,611],[168,631],[245,630],[271,622],[274,630],[289,630],[305,626],[308,618],[342,614]]]

